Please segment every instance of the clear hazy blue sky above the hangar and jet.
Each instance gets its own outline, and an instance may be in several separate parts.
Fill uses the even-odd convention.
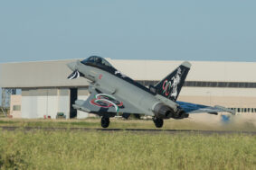
[[[256,1],[0,2],[0,63],[87,58],[256,61]]]

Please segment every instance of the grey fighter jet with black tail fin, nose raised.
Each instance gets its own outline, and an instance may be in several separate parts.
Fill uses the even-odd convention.
[[[183,62],[172,73],[156,85],[141,85],[122,74],[109,64],[105,58],[91,56],[67,64],[73,71],[69,79],[79,76],[89,80],[90,96],[86,101],[77,100],[72,106],[82,112],[90,112],[101,117],[101,127],[109,127],[109,118],[122,114],[152,116],[156,128],[163,127],[165,119],[184,119],[191,113],[230,112],[222,106],[205,106],[201,104],[176,101],[191,64]]]

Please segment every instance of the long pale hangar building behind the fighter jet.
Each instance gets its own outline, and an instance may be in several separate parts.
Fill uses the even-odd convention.
[[[154,85],[183,61],[125,60],[106,58],[123,74],[142,85]],[[54,119],[63,112],[67,119],[85,118],[71,104],[89,96],[88,81],[67,79],[71,70],[67,63],[76,59],[0,64],[0,86],[21,89],[21,96],[12,95],[14,117]],[[223,105],[236,112],[256,112],[256,63],[190,61],[191,70],[179,101],[206,105]]]

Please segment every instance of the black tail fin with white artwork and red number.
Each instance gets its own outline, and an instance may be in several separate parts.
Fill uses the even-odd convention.
[[[163,95],[172,101],[176,101],[181,88],[185,83],[185,78],[190,70],[190,67],[191,64],[185,61],[162,81],[158,82],[155,85],[157,94]]]

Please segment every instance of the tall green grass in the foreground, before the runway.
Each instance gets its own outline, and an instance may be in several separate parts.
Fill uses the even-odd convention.
[[[255,169],[250,135],[0,130],[0,169]]]

